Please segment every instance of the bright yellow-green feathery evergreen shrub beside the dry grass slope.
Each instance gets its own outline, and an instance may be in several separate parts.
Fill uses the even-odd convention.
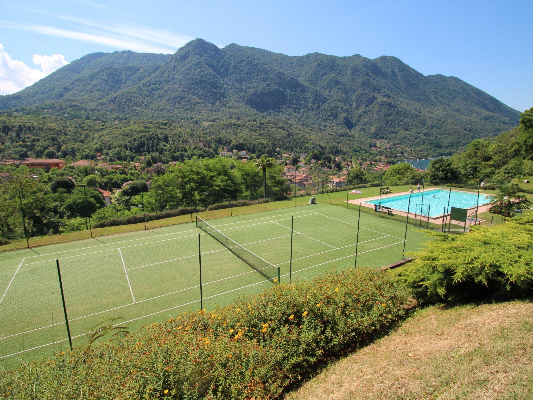
[[[394,270],[419,301],[531,294],[533,213],[498,226],[473,227],[465,235],[432,235],[437,239],[427,242],[425,250],[410,254],[413,262]]]

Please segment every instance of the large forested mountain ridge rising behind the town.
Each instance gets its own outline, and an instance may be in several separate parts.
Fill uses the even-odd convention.
[[[424,76],[394,57],[289,57],[236,44],[219,49],[201,39],[172,55],[88,54],[0,96],[0,109],[25,113],[52,103],[120,120],[281,119],[349,145],[384,138],[437,152],[501,133],[519,118],[461,79]]]

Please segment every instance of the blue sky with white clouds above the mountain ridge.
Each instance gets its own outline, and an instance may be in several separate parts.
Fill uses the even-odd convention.
[[[394,55],[523,111],[533,106],[531,15],[531,0],[0,0],[0,93],[87,53],[170,53],[201,37],[288,55]]]

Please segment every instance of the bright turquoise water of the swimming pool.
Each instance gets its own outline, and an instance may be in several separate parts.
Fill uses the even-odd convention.
[[[444,208],[448,206],[448,196],[450,196],[450,207],[459,207],[461,209],[469,209],[475,207],[478,201],[477,193],[467,193],[464,191],[452,190],[451,195],[449,190],[425,190],[424,199],[422,203],[422,191],[416,192],[411,195],[411,204],[409,206],[409,212],[416,212],[419,214],[421,205],[423,204],[424,212],[427,215],[427,205],[429,205],[430,217],[437,217],[442,215]],[[485,198],[486,195],[479,195],[479,205],[486,204],[490,201]],[[370,200],[366,203],[379,204],[379,199]],[[391,207],[394,210],[407,211],[407,205],[409,203],[409,195],[400,195],[392,197],[382,197],[381,205]],[[416,206],[418,204],[418,207]],[[448,210],[449,212],[449,210]]]

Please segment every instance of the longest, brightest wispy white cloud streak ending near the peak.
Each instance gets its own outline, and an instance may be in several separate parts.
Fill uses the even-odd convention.
[[[67,39],[76,39],[84,42],[100,43],[121,50],[132,50],[136,52],[146,53],[173,53],[175,51],[175,49],[157,46],[155,44],[146,43],[141,40],[119,38],[116,36],[113,37],[109,35],[94,35],[70,29],[39,25],[36,23],[20,23],[0,20],[0,26],[9,29],[24,30],[43,35],[58,36]]]

